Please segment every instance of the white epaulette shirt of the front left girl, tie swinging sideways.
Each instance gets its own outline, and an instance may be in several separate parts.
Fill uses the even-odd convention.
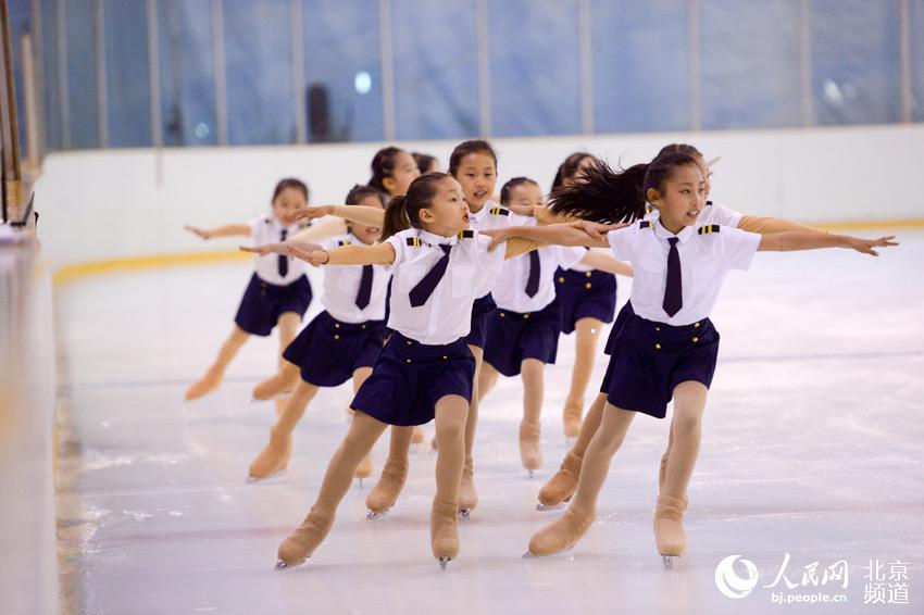
[[[503,264],[503,248],[488,252],[491,238],[477,230],[464,237],[442,237],[426,230],[402,230],[386,241],[395,248],[395,263],[386,267],[395,279],[388,326],[426,344],[450,343],[469,335],[472,304],[490,288]],[[411,290],[442,258],[440,243],[452,246],[449,264],[427,302],[411,306]],[[480,292],[480,294],[479,294]]]

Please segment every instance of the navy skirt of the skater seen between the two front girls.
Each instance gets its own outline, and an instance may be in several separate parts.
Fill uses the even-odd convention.
[[[498,308],[491,314],[485,362],[504,376],[520,374],[525,359],[554,363],[561,331],[558,299],[538,312],[510,312]]]

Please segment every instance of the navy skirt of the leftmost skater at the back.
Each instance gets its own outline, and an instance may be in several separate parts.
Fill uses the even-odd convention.
[[[253,274],[234,322],[250,335],[266,337],[273,331],[279,316],[295,312],[302,317],[310,303],[311,285],[307,276],[300,276],[288,286],[276,286]]]

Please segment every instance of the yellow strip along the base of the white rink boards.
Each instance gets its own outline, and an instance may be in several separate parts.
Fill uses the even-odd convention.
[[[876,219],[853,222],[824,222],[809,224],[815,228],[838,231],[875,230],[875,229],[903,229],[924,228],[924,218],[906,219]],[[214,263],[229,263],[252,259],[251,254],[239,250],[223,250],[221,252],[188,252],[179,254],[155,254],[151,256],[134,256],[128,259],[109,259],[105,261],[92,261],[89,263],[77,263],[65,265],[54,272],[51,280],[54,285],[71,283],[85,277],[137,272],[142,269],[157,269],[162,267],[176,267],[184,265],[207,265]]]

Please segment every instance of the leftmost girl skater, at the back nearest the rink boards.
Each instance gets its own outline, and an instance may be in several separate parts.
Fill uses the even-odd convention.
[[[248,224],[228,224],[212,229],[187,226],[202,239],[214,237],[250,236],[254,243],[285,241],[302,229],[294,213],[308,204],[308,186],[287,178],[276,184],[272,210]],[[258,255],[257,271],[240,301],[235,316],[235,327],[222,344],[218,356],[205,375],[186,390],[186,400],[192,401],[213,391],[221,384],[228,364],[250,336],[266,337],[279,326],[280,353],[296,337],[299,323],[311,303],[311,285],[304,275],[304,263],[283,254]]]

